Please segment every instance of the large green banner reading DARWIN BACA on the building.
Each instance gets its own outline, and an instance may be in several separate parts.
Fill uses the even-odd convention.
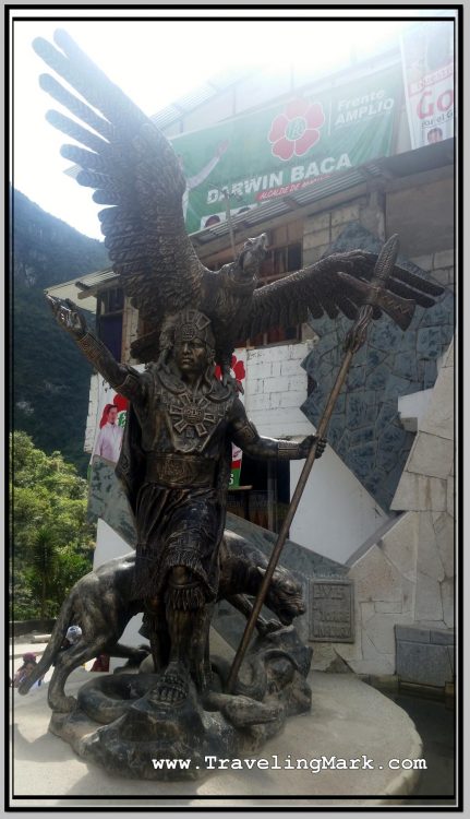
[[[189,233],[340,170],[388,156],[402,80],[400,66],[321,93],[173,138],[186,177]]]

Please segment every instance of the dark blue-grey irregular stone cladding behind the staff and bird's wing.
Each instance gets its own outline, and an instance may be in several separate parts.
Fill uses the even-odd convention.
[[[312,236],[320,240],[320,235],[322,241],[327,236],[333,239],[334,223],[339,221],[339,236],[330,245],[318,246],[317,256],[358,247],[378,252],[382,242],[360,221],[350,222],[354,216],[361,218],[372,211],[367,211],[360,200],[337,212],[321,214],[306,224],[305,230],[321,218],[320,224],[328,223],[329,227],[306,233],[305,241],[310,244]],[[315,254],[318,248],[315,248]],[[306,262],[311,261],[309,253]],[[441,282],[445,280],[448,284],[453,281],[451,250],[414,260],[426,265],[429,272],[410,260],[399,258],[398,261],[419,275],[434,277],[434,272],[438,272]],[[308,357],[305,369],[316,385],[302,410],[312,424],[317,425],[342,360],[342,343],[351,321],[342,317],[332,321],[325,317],[312,320],[311,325],[320,341]],[[447,348],[453,333],[454,294],[449,287],[434,307],[417,308],[405,333],[384,316],[371,327],[365,344],[355,355],[335,407],[328,442],[385,511],[390,508],[414,440],[413,434],[400,424],[398,397],[434,385],[436,361]]]

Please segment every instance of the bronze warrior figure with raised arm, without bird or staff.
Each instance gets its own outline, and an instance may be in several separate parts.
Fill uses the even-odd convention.
[[[112,357],[71,301],[49,297],[58,322],[94,367],[131,401],[117,474],[137,530],[135,592],[146,605],[162,701],[184,699],[190,675],[208,687],[207,638],[217,598],[231,442],[252,458],[305,459],[315,442],[262,438],[230,387],[215,377],[210,322],[186,309],[166,323],[167,363],[142,373]]]

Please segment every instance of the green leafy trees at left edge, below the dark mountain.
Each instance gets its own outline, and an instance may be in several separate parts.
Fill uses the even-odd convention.
[[[13,617],[55,617],[92,569],[87,483],[60,452],[47,455],[23,431],[13,432],[10,455]]]

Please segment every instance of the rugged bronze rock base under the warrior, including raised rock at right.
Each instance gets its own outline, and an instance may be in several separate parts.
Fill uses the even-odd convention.
[[[207,759],[255,753],[288,717],[310,711],[305,677],[311,656],[293,627],[277,629],[256,638],[233,693],[225,692],[230,663],[214,658],[213,672],[207,669],[210,688],[202,696],[183,665],[173,663],[156,674],[145,672],[144,661],[138,674],[93,675],[70,713],[57,700],[49,727],[110,773],[204,779],[210,770]]]

